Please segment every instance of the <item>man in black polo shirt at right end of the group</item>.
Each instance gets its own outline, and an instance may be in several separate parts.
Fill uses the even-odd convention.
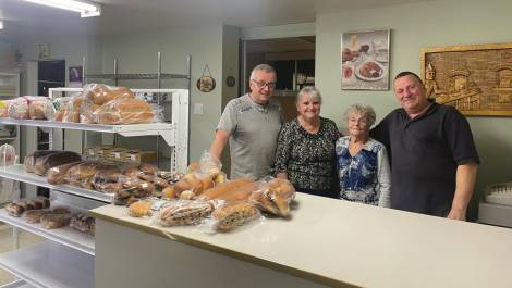
[[[453,107],[428,101],[412,72],[394,78],[401,109],[371,132],[391,160],[391,208],[465,220],[478,168],[470,124]]]

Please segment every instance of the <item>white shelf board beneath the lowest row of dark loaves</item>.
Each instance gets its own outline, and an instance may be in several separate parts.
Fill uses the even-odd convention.
[[[14,217],[8,214],[5,209],[0,209],[0,221],[27,230],[29,233],[39,235],[49,240],[59,242],[61,245],[80,250],[87,254],[94,255],[95,241],[94,237],[85,233],[77,231],[70,226],[58,229],[45,229],[40,223],[29,224],[23,217]]]

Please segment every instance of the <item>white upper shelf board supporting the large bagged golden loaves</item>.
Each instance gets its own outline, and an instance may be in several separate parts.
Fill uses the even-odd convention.
[[[173,125],[171,123],[148,123],[130,125],[103,125],[46,120],[0,118],[0,124],[74,129],[86,132],[115,133],[125,137],[160,135],[170,146],[174,146]]]

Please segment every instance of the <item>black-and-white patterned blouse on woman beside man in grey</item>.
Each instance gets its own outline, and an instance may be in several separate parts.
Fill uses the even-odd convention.
[[[278,138],[276,173],[287,173],[295,189],[330,191],[337,185],[336,123],[320,117],[317,134],[310,134],[294,118],[285,123]]]

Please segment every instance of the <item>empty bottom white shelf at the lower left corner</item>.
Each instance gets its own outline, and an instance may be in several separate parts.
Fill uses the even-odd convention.
[[[94,287],[94,256],[52,241],[1,254],[0,267],[36,287]]]

